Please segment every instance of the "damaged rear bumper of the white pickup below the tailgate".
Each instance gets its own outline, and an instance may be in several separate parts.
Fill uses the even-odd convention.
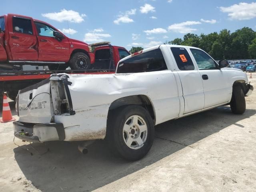
[[[65,139],[65,131],[61,123],[24,124],[13,122],[14,136],[30,142],[46,142]]]

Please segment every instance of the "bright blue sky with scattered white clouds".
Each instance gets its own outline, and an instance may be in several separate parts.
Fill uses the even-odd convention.
[[[7,13],[43,20],[87,43],[110,41],[128,50],[187,32],[256,30],[256,2],[250,0],[2,0],[1,15]]]

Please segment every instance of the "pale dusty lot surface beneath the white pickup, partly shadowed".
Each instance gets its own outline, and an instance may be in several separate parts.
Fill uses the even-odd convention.
[[[243,115],[223,106],[160,124],[137,162],[112,156],[104,140],[86,155],[77,142],[31,146],[16,139],[16,146],[12,122],[0,124],[0,191],[256,191],[256,73],[249,80],[255,90]]]

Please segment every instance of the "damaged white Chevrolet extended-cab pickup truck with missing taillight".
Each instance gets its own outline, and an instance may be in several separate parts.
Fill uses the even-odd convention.
[[[53,74],[20,90],[14,135],[30,142],[106,138],[122,158],[150,150],[154,126],[229,105],[246,109],[246,73],[194,47],[160,45],[120,60],[116,74]]]

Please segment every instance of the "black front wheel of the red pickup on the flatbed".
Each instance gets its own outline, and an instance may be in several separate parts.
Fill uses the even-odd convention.
[[[89,69],[91,66],[90,58],[85,53],[75,53],[71,56],[70,68],[73,70]]]

